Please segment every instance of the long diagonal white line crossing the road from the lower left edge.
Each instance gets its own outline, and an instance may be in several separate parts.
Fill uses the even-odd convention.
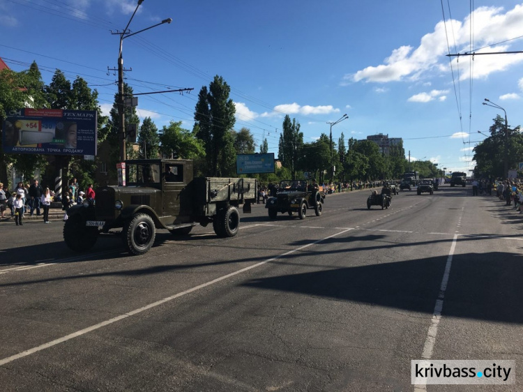
[[[126,319],[127,317],[137,315],[138,313],[144,312],[145,310],[149,310],[151,308],[156,308],[157,306],[162,305],[162,303],[166,303],[166,302],[172,301],[174,299],[180,298],[181,296],[185,296],[185,295],[190,294],[192,292],[196,292],[197,290],[203,289],[204,287],[209,287],[211,285],[214,285],[215,283],[221,282],[222,280],[226,280],[228,278],[232,278],[232,276],[236,276],[236,275],[238,275],[240,273],[243,273],[245,271],[249,271],[251,269],[255,269],[255,268],[259,267],[259,266],[267,264],[268,262],[273,262],[273,261],[275,261],[277,259],[280,259],[281,257],[285,257],[287,255],[291,255],[294,252],[298,252],[299,250],[308,248],[309,246],[313,246],[313,245],[315,245],[317,243],[320,243],[322,241],[326,241],[326,240],[331,239],[331,238],[333,238],[335,236],[339,236],[340,234],[344,234],[346,232],[349,232],[350,230],[351,229],[347,229],[347,230],[343,230],[342,232],[338,232],[336,234],[331,234],[330,236],[326,236],[323,239],[319,239],[317,241],[312,241],[311,243],[308,243],[306,245],[300,246],[300,247],[298,247],[296,249],[293,249],[293,250],[289,250],[288,252],[282,253],[281,255],[278,255],[276,257],[271,257],[271,259],[266,259],[263,262],[259,262],[257,264],[252,264],[252,266],[248,266],[248,267],[245,267],[243,269],[238,269],[238,271],[234,271],[232,273],[227,273],[227,275],[220,276],[220,278],[213,279],[213,280],[211,280],[209,282],[206,282],[206,283],[202,283],[202,285],[198,285],[196,287],[192,287],[191,289],[185,290],[184,292],[179,292],[178,294],[174,294],[172,296],[167,296],[164,299],[160,299],[160,301],[149,303],[149,305],[143,306],[142,308],[131,310],[130,312],[127,312],[126,314],[113,317],[112,319],[105,320],[104,322],[100,322],[98,324],[95,324],[93,326],[89,326],[87,328],[81,329],[81,330],[76,331],[74,333],[70,333],[69,335],[63,336],[62,338],[58,338],[58,339],[52,340],[50,342],[44,343],[43,345],[40,345],[40,346],[37,346],[37,347],[33,347],[32,349],[27,349],[24,352],[20,352],[20,353],[15,354],[15,355],[8,356],[7,358],[4,358],[4,359],[0,360],[0,366],[5,365],[6,363],[13,362],[13,361],[15,361],[17,359],[24,358],[24,356],[29,356],[29,355],[34,354],[36,352],[42,351],[43,349],[48,349],[49,347],[53,347],[55,345],[59,345],[60,343],[63,343],[63,342],[66,342],[68,340],[77,338],[78,336],[82,336],[82,335],[84,335],[86,333],[89,333],[91,331],[95,331],[96,329],[100,329],[103,326],[107,326],[109,324],[113,324],[115,322],[119,322],[121,319]]]

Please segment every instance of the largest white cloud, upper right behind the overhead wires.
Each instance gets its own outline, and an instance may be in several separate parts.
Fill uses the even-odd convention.
[[[447,73],[448,63],[444,62],[448,52],[448,40],[455,43],[460,53],[469,50],[471,21],[473,21],[474,45],[484,47],[480,52],[503,52],[508,50],[509,44],[496,47],[485,47],[521,35],[523,24],[523,4],[516,5],[512,10],[503,13],[501,7],[480,7],[474,11],[473,18],[467,16],[464,21],[448,20],[438,22],[434,31],[425,34],[420,45],[414,48],[404,45],[394,49],[391,56],[384,59],[378,66],[368,66],[356,73],[349,73],[342,78],[342,85],[351,82],[395,82],[401,80],[419,80],[431,70]],[[457,69],[458,59],[452,61]],[[473,77],[483,78],[493,72],[506,70],[516,63],[523,62],[523,54],[476,56],[473,61]],[[471,75],[471,61],[461,61],[460,78],[466,80]]]

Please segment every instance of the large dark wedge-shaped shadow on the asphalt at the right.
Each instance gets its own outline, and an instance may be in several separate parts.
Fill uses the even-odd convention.
[[[243,286],[432,315],[445,264],[446,257],[428,257],[254,279]],[[455,255],[443,315],[523,324],[522,276],[521,255]]]

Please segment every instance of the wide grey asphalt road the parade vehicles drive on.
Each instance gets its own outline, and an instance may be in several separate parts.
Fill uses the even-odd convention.
[[[232,239],[160,230],[142,257],[1,223],[1,391],[414,391],[411,360],[520,367],[523,214],[471,188],[369,193],[305,220],[255,205]]]

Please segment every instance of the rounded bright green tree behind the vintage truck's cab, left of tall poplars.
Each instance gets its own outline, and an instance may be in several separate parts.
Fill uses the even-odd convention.
[[[171,121],[169,126],[163,126],[159,139],[160,151],[169,158],[195,159],[205,156],[202,140],[181,128],[181,121]]]

